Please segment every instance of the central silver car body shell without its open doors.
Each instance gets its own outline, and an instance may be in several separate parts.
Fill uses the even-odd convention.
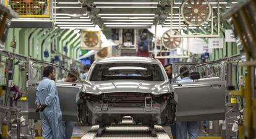
[[[163,80],[90,80],[93,71],[96,70],[95,65],[121,63],[128,65],[134,63],[157,65]],[[129,66],[126,67],[129,68]],[[154,99],[159,98],[157,96],[161,95],[169,95],[170,99],[166,99],[161,103],[155,102]],[[100,101],[86,99],[87,96],[96,97]],[[84,88],[77,95],[77,104],[80,106],[79,119],[88,125],[99,124],[100,122],[108,125],[113,122],[119,122],[123,116],[132,116],[135,122],[145,125],[152,123],[167,124],[174,119],[174,113],[171,114],[169,112],[169,120],[167,116],[167,107],[168,104],[171,105],[171,99],[173,100],[172,104],[176,104],[177,98],[174,98],[174,96],[176,95],[174,95],[173,88],[160,61],[146,57],[111,57],[102,59],[93,62],[85,80]],[[108,99],[106,104],[103,103],[105,98]],[[112,101],[113,99],[116,99],[116,101]],[[122,102],[118,101],[118,99],[122,100]],[[147,99],[150,100],[149,104],[146,104]],[[171,111],[171,106],[169,106],[169,111]],[[85,116],[85,114],[87,115]]]

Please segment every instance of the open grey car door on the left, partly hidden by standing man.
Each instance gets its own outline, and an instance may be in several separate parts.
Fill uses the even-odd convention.
[[[35,97],[36,87],[39,82],[28,81],[28,118],[40,119],[39,112],[36,111]],[[58,88],[59,102],[61,105],[62,119],[68,121],[77,121],[78,111],[75,103],[75,95],[79,93],[79,84],[74,83],[56,83]]]

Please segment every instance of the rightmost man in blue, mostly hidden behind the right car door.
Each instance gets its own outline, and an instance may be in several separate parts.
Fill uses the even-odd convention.
[[[187,67],[181,67],[179,69],[179,73],[181,74],[187,70]],[[177,83],[190,83],[193,82],[189,78],[189,72],[181,75],[182,80],[178,81]],[[177,128],[177,139],[186,139],[187,133],[189,134],[190,139],[197,139],[198,138],[198,123],[197,121],[188,121],[188,122],[176,122]]]

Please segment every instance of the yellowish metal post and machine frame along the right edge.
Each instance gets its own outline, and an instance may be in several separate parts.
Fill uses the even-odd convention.
[[[251,0],[252,5],[256,7],[256,2]],[[245,26],[249,30],[250,35],[254,38],[254,43],[256,44],[256,36],[254,35],[253,28],[250,26],[249,18],[245,13],[245,7],[241,7],[239,12],[245,19]],[[236,14],[236,13],[235,13]],[[244,64],[240,64],[241,66],[247,67],[247,75],[245,76],[245,86],[241,88],[240,91],[231,91],[231,95],[241,95],[245,99],[245,107],[244,107],[244,120],[243,125],[239,125],[239,139],[248,138],[252,139],[254,130],[256,129],[256,99],[252,99],[252,84],[251,81],[254,78],[251,77],[252,71],[250,70],[253,66],[256,65],[256,62],[250,61],[250,54],[247,48],[247,44],[245,43],[244,37],[242,36],[242,28],[241,23],[236,18],[236,15],[233,14],[232,20],[234,27],[236,28],[237,35],[241,39],[243,49],[246,54],[246,61]]]

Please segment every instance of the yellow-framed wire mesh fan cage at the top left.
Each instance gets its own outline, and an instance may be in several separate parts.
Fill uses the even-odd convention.
[[[24,1],[32,1],[33,3],[36,3],[36,5],[31,8],[31,6],[33,6],[32,2],[24,2]],[[38,8],[40,5],[43,6],[43,2],[47,2],[46,7],[43,8]],[[12,7],[12,10],[17,12],[19,14],[19,17],[42,17],[42,18],[48,18],[50,17],[50,5],[51,2],[50,0],[5,0],[5,4],[6,6],[11,6],[11,3],[17,3],[20,4],[19,6],[28,6],[28,9],[30,9],[30,11],[25,11],[25,10],[21,10],[21,7]],[[34,9],[34,10],[33,10]],[[39,9],[39,10],[38,10]],[[20,12],[19,12],[20,11]],[[28,12],[28,14],[26,13]],[[29,13],[30,12],[30,13]],[[36,14],[31,14],[31,12],[36,12]]]

